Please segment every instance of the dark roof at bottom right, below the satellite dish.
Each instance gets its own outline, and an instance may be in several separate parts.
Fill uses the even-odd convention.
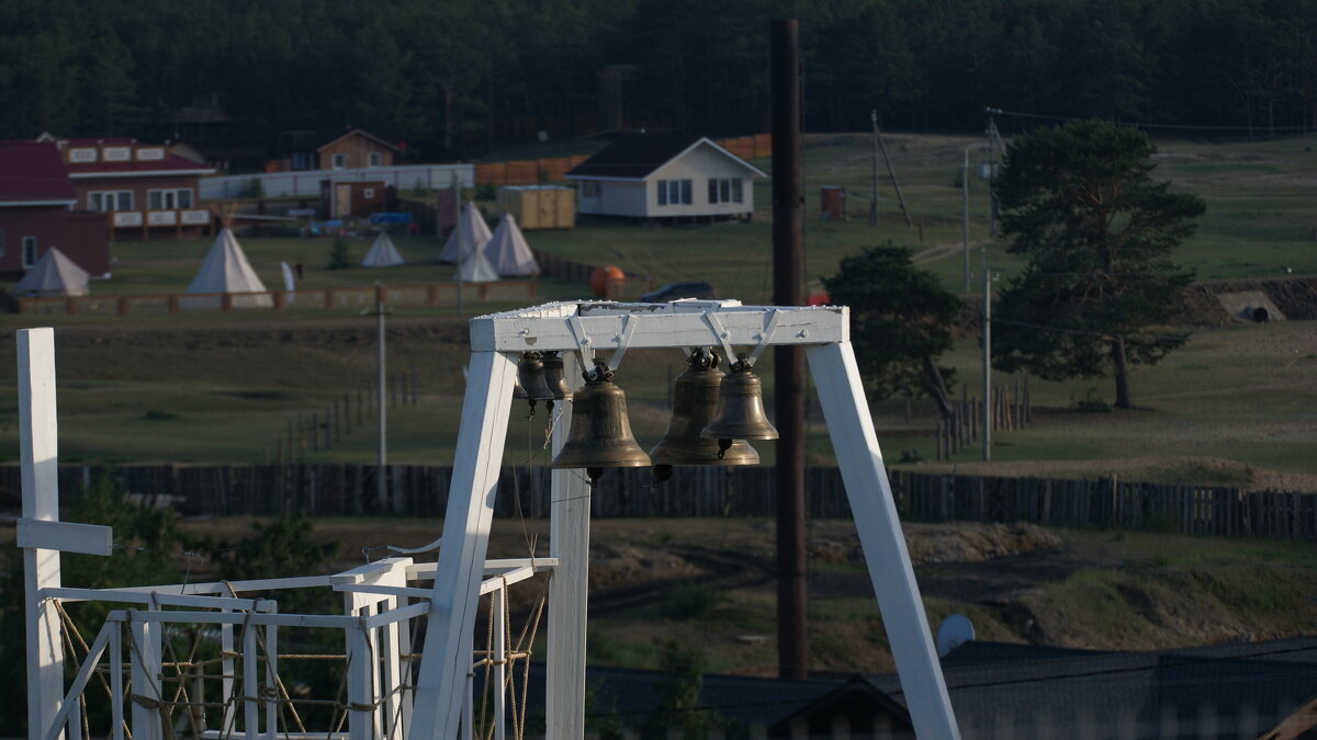
[[[956,719],[961,729],[1009,727],[1011,737],[1081,735],[1084,723],[1105,728],[1098,736],[1159,736],[1168,714],[1196,722],[1204,712],[1214,714],[1222,736],[1256,736],[1317,694],[1313,637],[1146,653],[1048,648],[1033,656],[986,644],[969,647],[967,657],[975,653],[986,660],[943,666]],[[907,704],[896,674],[865,681]]]

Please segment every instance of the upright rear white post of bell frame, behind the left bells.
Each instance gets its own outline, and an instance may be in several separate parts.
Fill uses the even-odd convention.
[[[581,373],[573,353],[562,353],[562,373],[573,388]],[[572,427],[572,402],[561,402],[553,429],[553,454]],[[585,736],[585,647],[590,569],[590,487],[579,470],[552,471],[549,556],[558,558],[549,582],[548,650],[545,657],[545,737]]]

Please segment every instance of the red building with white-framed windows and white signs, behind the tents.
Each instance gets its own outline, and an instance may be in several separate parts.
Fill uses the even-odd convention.
[[[211,211],[198,203],[196,184],[213,169],[132,138],[53,141],[72,180],[74,208],[105,213],[116,238],[200,236],[202,226],[209,228]]]

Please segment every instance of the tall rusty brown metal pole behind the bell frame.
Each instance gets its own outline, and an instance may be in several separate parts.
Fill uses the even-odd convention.
[[[801,47],[797,21],[772,21],[773,304],[805,304],[801,192]],[[773,354],[777,407],[777,664],[782,678],[805,678],[805,356]]]

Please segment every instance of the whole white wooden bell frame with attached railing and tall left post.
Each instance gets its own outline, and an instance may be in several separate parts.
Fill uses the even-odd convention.
[[[373,670],[349,670],[349,683],[356,682],[358,695],[365,694],[377,707],[389,706],[385,719],[358,711],[350,716],[348,733],[336,737],[366,740],[375,737],[410,740],[457,739],[471,733],[471,656],[478,600],[495,594],[493,602],[504,604],[510,582],[528,578],[536,571],[552,571],[548,593],[547,635],[547,737],[577,740],[585,736],[585,668],[586,606],[590,542],[590,491],[585,475],[577,470],[554,470],[551,491],[549,557],[527,561],[487,561],[494,496],[503,461],[516,362],[523,352],[561,352],[569,382],[578,383],[574,371],[579,358],[591,367],[594,353],[610,353],[608,365],[616,369],[628,349],[697,346],[720,348],[727,357],[736,357],[736,348],[752,359],[769,346],[794,345],[805,349],[815,379],[819,404],[832,438],[842,478],[859,531],[865,562],[873,582],[888,641],[901,677],[902,690],[917,735],[922,739],[959,737],[955,715],[947,694],[925,618],[919,587],[910,556],[906,552],[896,502],[882,465],[882,454],[873,431],[869,407],[864,398],[855,353],[849,342],[849,313],[844,307],[764,307],[741,305],[736,300],[681,300],[674,303],[564,302],[533,308],[493,313],[470,321],[471,357],[461,427],[453,460],[452,486],[444,516],[443,545],[433,565],[414,565],[410,558],[390,558],[345,574],[274,579],[241,585],[249,590],[323,585],[344,591],[346,614],[291,615],[277,614],[273,603],[241,599],[232,589],[219,585],[155,586],[117,590],[65,589],[59,582],[59,552],[109,553],[111,532],[103,527],[58,523],[57,441],[54,402],[54,342],[51,329],[18,332],[18,395],[24,489],[24,519],[20,520],[18,545],[25,548],[26,618],[28,618],[28,686],[29,737],[58,740],[62,733],[80,740],[76,702],[68,702],[87,687],[86,670],[71,687],[65,686],[62,664],[62,624],[55,611],[59,599],[132,600],[148,611],[112,612],[111,619],[129,624],[130,635],[141,637],[146,656],[134,669],[141,679],[159,670],[158,625],[170,620],[209,620],[216,624],[242,621],[237,653],[255,652],[255,637],[262,633],[246,627],[329,627],[345,632],[345,652],[387,650],[392,636],[392,653],[383,653],[383,665]],[[624,384],[624,381],[623,381]],[[561,416],[553,428],[552,450],[556,454],[566,440],[572,404],[562,402]],[[423,573],[424,571],[424,573]],[[508,575],[515,574],[510,581]],[[410,581],[433,579],[421,589]],[[320,581],[324,581],[321,583]],[[275,583],[307,581],[307,583]],[[315,581],[311,583],[309,581]],[[207,586],[211,589],[207,590]],[[229,585],[225,585],[229,586]],[[205,595],[209,594],[209,595]],[[150,598],[146,598],[150,595]],[[356,598],[356,600],[352,600]],[[391,599],[391,600],[390,600]],[[183,602],[187,602],[186,604]],[[223,602],[223,603],[221,603]],[[360,603],[358,603],[360,602]],[[212,612],[166,611],[165,607],[188,606],[212,608]],[[173,616],[171,616],[173,615]],[[200,615],[200,616],[199,616]],[[415,668],[390,665],[389,654],[404,654],[410,645],[399,645],[406,625],[412,619],[427,619],[427,637]],[[341,620],[336,621],[336,620]],[[157,631],[153,632],[153,625]],[[373,632],[374,631],[374,632]],[[119,650],[119,624],[103,629],[92,650]],[[232,635],[232,632],[230,632]],[[265,632],[265,640],[271,640]],[[277,639],[277,637],[275,637]],[[232,643],[230,636],[230,643]],[[271,648],[262,644],[269,653]],[[506,649],[506,645],[502,648]],[[400,652],[399,652],[400,650]],[[142,652],[142,650],[138,650]],[[271,653],[273,654],[273,653]],[[97,653],[99,656],[99,653]],[[242,654],[240,661],[254,656]],[[87,669],[96,658],[83,664]],[[151,662],[154,661],[154,662]],[[265,670],[273,674],[273,661]],[[350,668],[350,664],[349,664]],[[254,681],[259,670],[244,670],[245,681]],[[357,677],[353,678],[353,674]],[[408,683],[408,675],[415,683]],[[111,675],[119,673],[111,670]],[[134,673],[133,675],[138,675]],[[274,679],[271,678],[271,683]],[[499,681],[497,685],[502,686]],[[363,689],[365,686],[365,689]],[[250,686],[252,693],[255,691]],[[353,686],[349,686],[349,690]],[[119,687],[121,691],[121,687]],[[248,691],[244,691],[246,694]],[[392,703],[387,697],[396,697]],[[250,698],[249,698],[250,699]],[[70,706],[72,704],[72,707]],[[403,707],[406,704],[406,707]],[[119,697],[116,707],[122,706]],[[502,702],[495,691],[495,736],[504,737]],[[262,720],[255,712],[261,704],[245,700],[245,731],[234,737],[287,736],[277,731],[273,715]],[[406,708],[406,722],[400,722]],[[270,711],[266,707],[263,711]],[[162,737],[163,728],[151,723],[150,712],[138,712],[141,732],[134,740]],[[138,716],[138,714],[141,716]],[[117,719],[117,718],[116,718]],[[122,724],[122,723],[120,723]],[[136,727],[136,724],[134,724]],[[120,726],[116,724],[116,736]],[[309,735],[308,735],[309,736]],[[324,737],[324,732],[316,736]]]

